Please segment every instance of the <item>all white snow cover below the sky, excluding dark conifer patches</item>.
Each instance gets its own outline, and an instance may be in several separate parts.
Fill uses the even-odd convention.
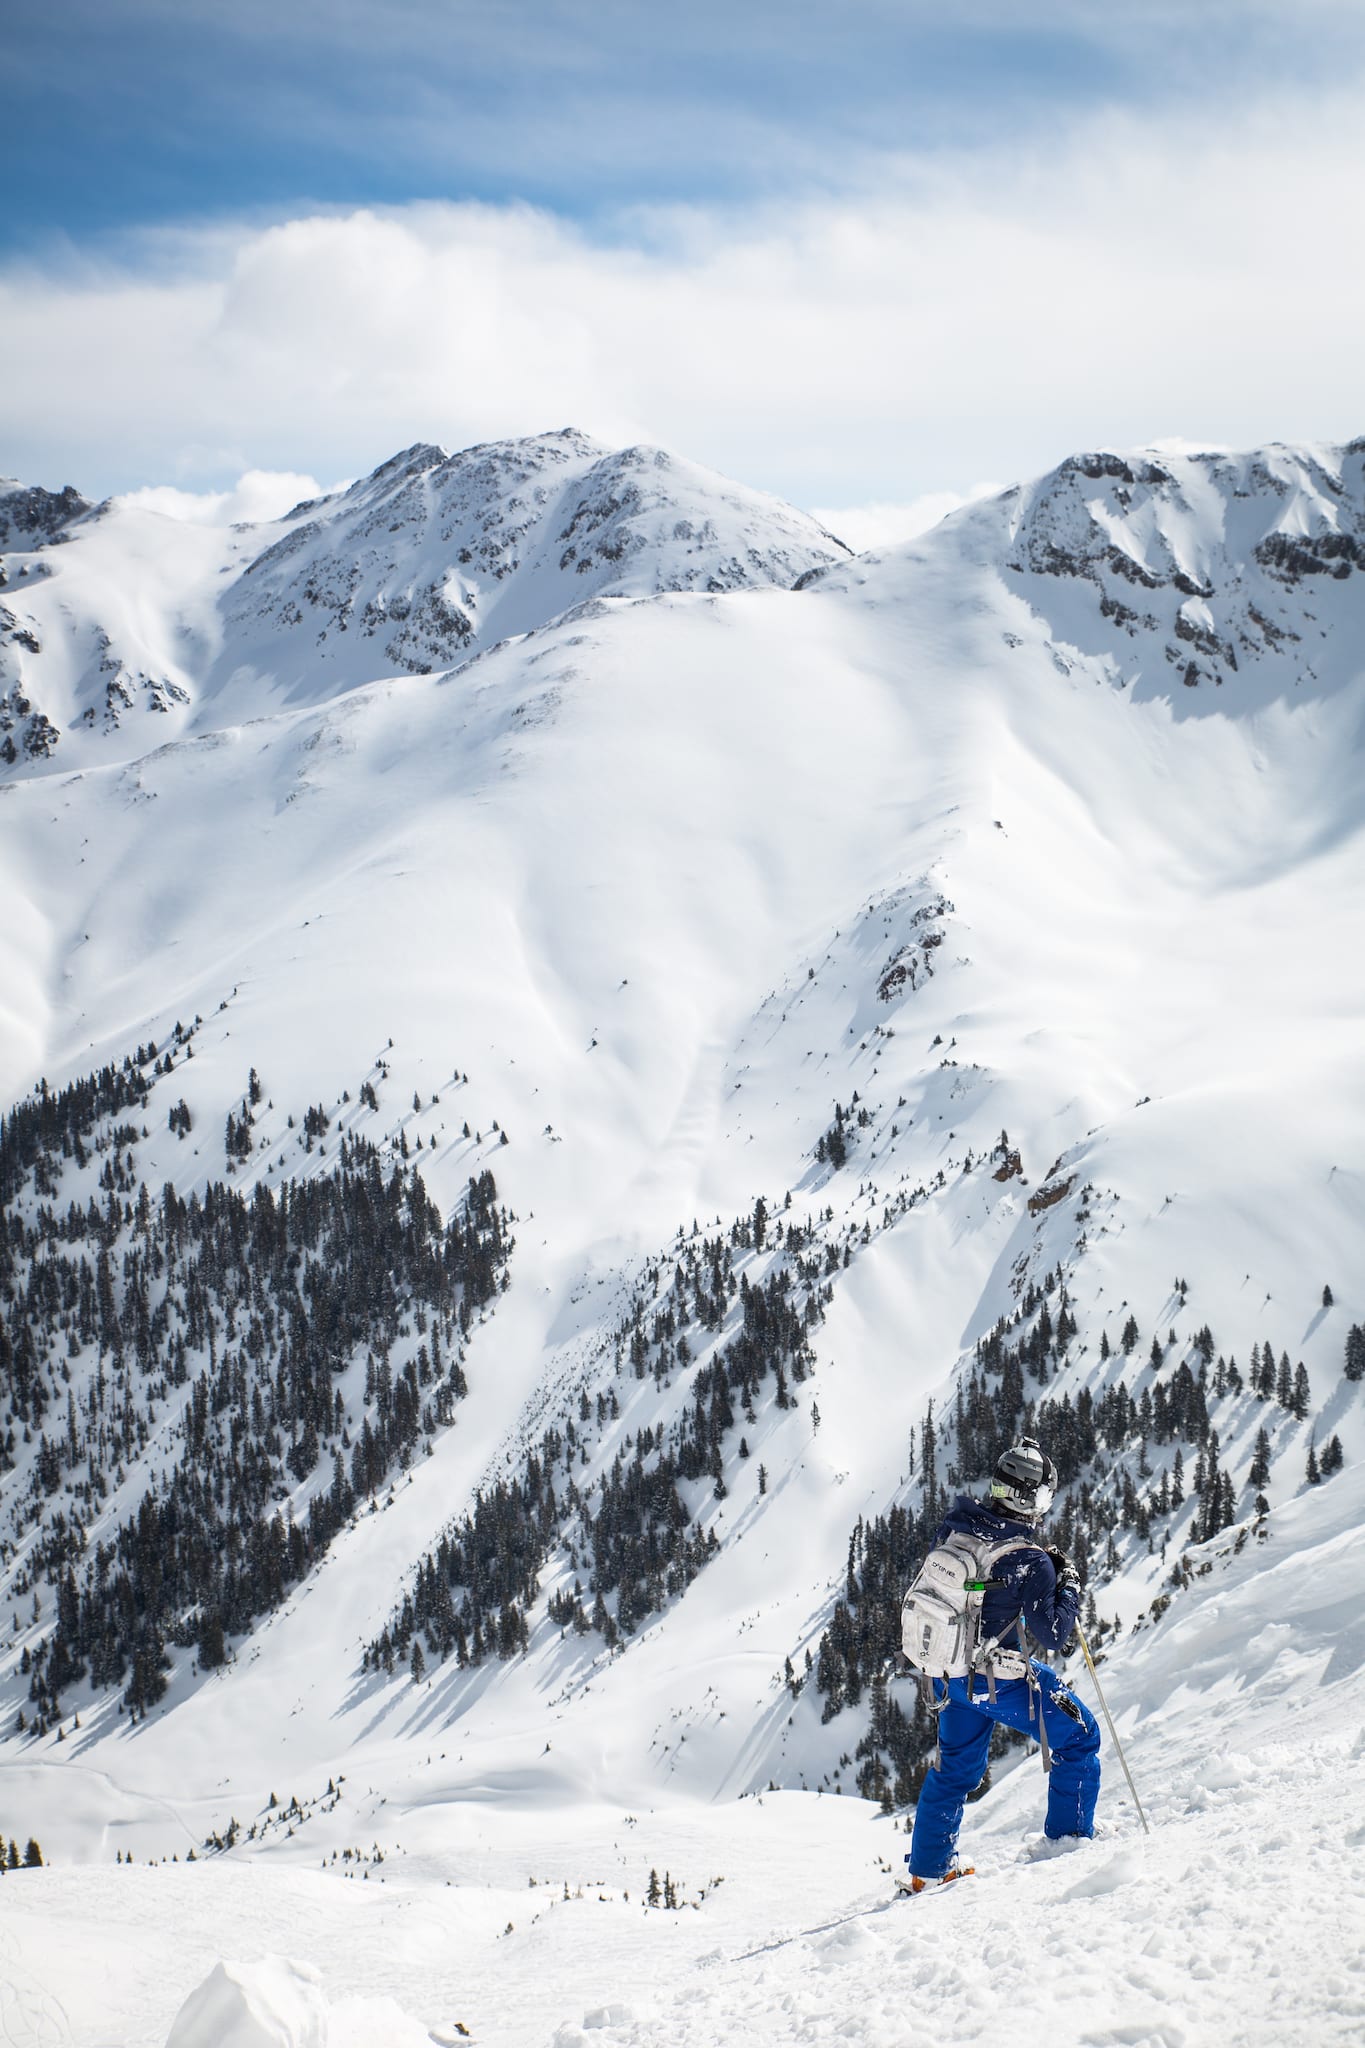
[[[334,2042],[456,2040],[458,2019],[557,2048],[882,2048],[988,2040],[1003,2013],[1095,2048],[1359,2040],[1365,1430],[1340,1362],[1365,1319],[1363,446],[1081,457],[833,567],[837,547],[759,500],[772,567],[747,578],[724,569],[735,487],[686,465],[667,483],[653,455],[641,479],[577,436],[493,455],[499,492],[553,498],[563,475],[600,518],[575,543],[546,510],[516,571],[483,563],[473,612],[458,578],[438,584],[475,563],[448,563],[454,514],[432,506],[465,504],[489,451],[409,451],[282,522],[280,541],[317,528],[295,551],[39,506],[25,535],[41,512],[51,539],[4,557],[10,674],[37,692],[29,664],[68,651],[29,700],[59,743],[16,748],[0,801],[0,1096],[201,1012],[176,1077],[199,1149],[158,1130],[139,1171],[221,1178],[256,1065],[276,1110],[250,1188],[307,1169],[287,1110],[354,1098],[383,1049],[387,1104],[368,1124],[352,1104],[356,1128],[430,1139],[442,1206],[493,1163],[520,1225],[456,1425],[235,1663],[205,1677],[176,1653],[135,1733],[88,1700],[61,1749],[0,1747],[0,1821],[57,1866],[4,1880],[0,2019],[14,2040],[160,2044],[217,1960],[287,1948],[321,1970]],[[593,520],[618,535],[614,473],[585,481],[602,463],[681,492],[632,526],[630,584],[587,543]],[[696,575],[684,520],[726,532]],[[569,545],[587,573],[561,565]],[[403,639],[399,578],[479,633]],[[117,705],[104,729],[98,633],[137,702],[166,694],[156,735],[184,737],[147,752]],[[835,1171],[817,1141],[853,1090],[870,1126]],[[1007,1180],[982,1165],[1001,1128]],[[929,1196],[892,1214],[905,1188]],[[61,1200],[90,1190],[72,1169]],[[610,1376],[612,1321],[679,1225],[788,1190],[800,1217],[833,1208],[831,1239],[853,1225],[857,1255],[812,1391],[751,1436],[767,1491],[700,1489],[720,1552],[688,1595],[618,1657],[540,1608],[524,1659],[360,1681],[446,1520]],[[1310,1415],[1277,1419],[1265,1538],[1195,1552],[1207,1573],[1103,1667],[1150,1843],[1105,1747],[1113,1833],[1021,1868],[1042,1808],[1025,1759],[970,1808],[982,1878],[876,1911],[907,1839],[825,1796],[866,1714],[823,1724],[782,1663],[819,1642],[857,1516],[905,1495],[927,1399],[1058,1262],[1070,1386],[1115,1370],[1099,1335],[1130,1311],[1144,1350],[1207,1319],[1240,1360],[1265,1339],[1304,1358]],[[659,1399],[634,1391],[622,1430]],[[1248,1401],[1224,1432],[1238,1475],[1265,1419]],[[1340,1434],[1347,1468],[1304,1489],[1314,1432]],[[1130,1548],[1103,1612],[1136,1622],[1166,1569]],[[6,1731],[37,1632],[25,1606]],[[276,1788],[307,1825],[145,1868]],[[641,1907],[655,1866],[696,1911]]]

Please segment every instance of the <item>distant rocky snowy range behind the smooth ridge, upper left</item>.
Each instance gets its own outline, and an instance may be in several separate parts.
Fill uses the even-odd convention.
[[[57,555],[51,541],[72,545]],[[448,670],[593,598],[788,588],[847,559],[776,498],[573,430],[460,455],[417,444],[268,526],[190,528],[14,487],[0,496],[0,547],[12,551],[0,614],[12,772],[127,760],[381,676]]]

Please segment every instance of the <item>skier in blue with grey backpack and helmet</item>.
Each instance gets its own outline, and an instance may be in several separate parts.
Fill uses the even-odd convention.
[[[925,1671],[923,1683],[931,1688],[939,1716],[939,1745],[915,1806],[915,1833],[905,1858],[909,1868],[896,1878],[900,1890],[917,1894],[970,1876],[972,1866],[958,1864],[954,1851],[966,1796],[986,1772],[997,1720],[1036,1733],[1046,1765],[1050,1757],[1048,1839],[1095,1833],[1099,1724],[1056,1671],[1023,1649],[1027,1624],[1044,1649],[1060,1651],[1081,1608],[1081,1573],[1072,1559],[1064,1550],[1044,1548],[1038,1536],[1054,1493],[1056,1466],[1025,1436],[1001,1452],[990,1479],[990,1501],[958,1495],[933,1538],[931,1561],[937,1546],[954,1534],[980,1546],[978,1554],[990,1554],[986,1546],[1011,1548],[990,1556],[984,1581],[968,1585],[968,1593],[976,1591],[980,1604],[974,1610],[966,1677],[933,1677]],[[921,1583],[923,1577],[907,1593],[905,1612],[907,1653],[923,1667],[911,1642],[911,1614]],[[1005,1636],[1013,1636],[1019,1649],[1005,1647]]]

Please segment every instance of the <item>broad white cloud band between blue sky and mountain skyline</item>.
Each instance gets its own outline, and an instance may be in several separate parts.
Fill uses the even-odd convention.
[[[1070,449],[1365,426],[1353,94],[882,162],[857,199],[614,240],[430,205],[0,274],[0,446],[43,481],[358,473],[577,424],[798,502],[905,506]]]

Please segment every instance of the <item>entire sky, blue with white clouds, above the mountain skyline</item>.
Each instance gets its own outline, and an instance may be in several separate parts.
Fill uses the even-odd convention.
[[[47,0],[0,72],[4,469],[336,477],[571,416],[851,504],[1361,428],[1308,219],[1361,190],[1359,0]]]

